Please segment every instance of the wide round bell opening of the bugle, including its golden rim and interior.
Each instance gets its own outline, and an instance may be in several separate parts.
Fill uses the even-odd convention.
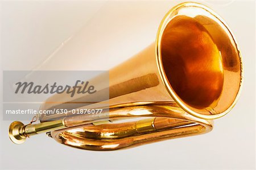
[[[232,31],[198,3],[181,3],[164,16],[156,38],[161,78],[174,101],[200,118],[218,118],[237,101],[242,59]]]

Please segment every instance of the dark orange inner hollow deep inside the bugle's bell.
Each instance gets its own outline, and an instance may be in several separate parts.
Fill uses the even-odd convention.
[[[224,83],[221,53],[196,18],[176,16],[167,24],[162,60],[172,88],[185,103],[196,109],[216,105]]]

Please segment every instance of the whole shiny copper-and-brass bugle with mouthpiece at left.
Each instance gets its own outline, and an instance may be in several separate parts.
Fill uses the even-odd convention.
[[[185,2],[164,16],[155,43],[109,71],[109,100],[102,101],[109,103],[108,119],[85,114],[43,117],[38,124],[16,121],[9,136],[19,144],[48,132],[59,143],[105,151],[204,134],[212,119],[235,105],[242,79],[241,53],[224,20],[204,5]],[[46,101],[41,107],[55,106]],[[144,119],[129,121],[134,118]]]

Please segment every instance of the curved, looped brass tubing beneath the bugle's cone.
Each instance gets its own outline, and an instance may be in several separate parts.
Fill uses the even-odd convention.
[[[126,123],[75,126],[52,131],[57,142],[85,150],[109,151],[160,140],[209,132],[213,122],[193,117],[175,103],[123,107],[109,111],[110,119],[151,117]],[[78,118],[77,121],[80,121]],[[69,120],[65,120],[68,124]],[[76,122],[72,119],[72,124]],[[81,124],[79,122],[78,124]]]

